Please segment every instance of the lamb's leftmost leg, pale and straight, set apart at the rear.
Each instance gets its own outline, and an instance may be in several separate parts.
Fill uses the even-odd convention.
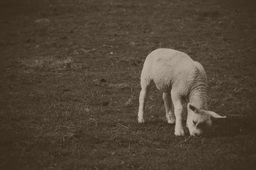
[[[145,103],[148,97],[148,91],[150,88],[151,80],[147,77],[141,77],[140,80],[141,84],[141,91],[140,91],[140,106],[139,106],[139,112],[138,112],[138,122],[139,123],[145,123]]]

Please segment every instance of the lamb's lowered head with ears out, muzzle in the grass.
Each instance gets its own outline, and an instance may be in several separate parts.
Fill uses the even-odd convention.
[[[197,106],[188,103],[188,119],[186,126],[189,128],[191,136],[199,136],[204,130],[211,126],[211,118],[226,118],[212,111],[205,111]]]

